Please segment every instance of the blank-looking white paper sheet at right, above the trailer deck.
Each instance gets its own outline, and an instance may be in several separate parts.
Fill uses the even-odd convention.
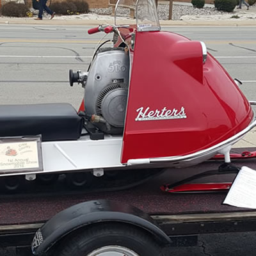
[[[256,170],[241,168],[223,204],[256,209]]]

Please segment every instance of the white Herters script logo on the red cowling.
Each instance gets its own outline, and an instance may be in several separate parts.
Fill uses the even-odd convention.
[[[150,120],[166,120],[166,119],[181,119],[187,118],[185,113],[185,108],[182,106],[179,109],[168,109],[164,107],[163,109],[150,109],[150,107],[138,108],[136,109],[138,115],[135,118],[135,121],[150,121]]]

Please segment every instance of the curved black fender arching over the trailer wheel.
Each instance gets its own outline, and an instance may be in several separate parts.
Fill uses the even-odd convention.
[[[42,255],[71,232],[106,222],[127,223],[149,232],[161,244],[171,243],[170,237],[140,209],[111,200],[93,200],[73,205],[48,220],[36,231],[32,252],[34,255]]]

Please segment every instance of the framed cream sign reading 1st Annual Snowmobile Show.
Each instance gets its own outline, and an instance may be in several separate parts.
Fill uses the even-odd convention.
[[[0,143],[0,171],[39,168],[37,141]]]

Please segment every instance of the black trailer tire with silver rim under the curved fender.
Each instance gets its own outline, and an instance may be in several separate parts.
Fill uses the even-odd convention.
[[[72,235],[71,235],[72,236]],[[102,223],[72,236],[58,256],[161,256],[160,246],[138,228],[118,223]]]

